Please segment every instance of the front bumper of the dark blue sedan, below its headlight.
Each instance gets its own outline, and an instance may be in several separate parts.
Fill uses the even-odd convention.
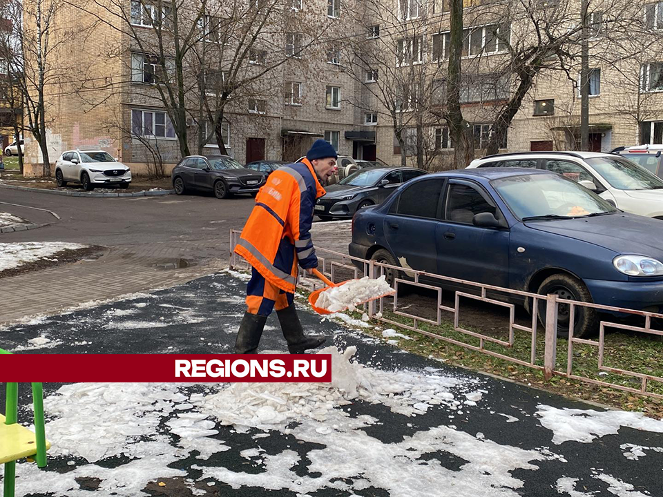
[[[663,281],[584,280],[584,282],[596,304],[636,311],[663,311]]]

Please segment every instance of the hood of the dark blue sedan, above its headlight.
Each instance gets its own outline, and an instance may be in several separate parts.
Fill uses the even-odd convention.
[[[617,213],[569,220],[526,221],[525,226],[555,233],[622,254],[663,257],[663,221]]]

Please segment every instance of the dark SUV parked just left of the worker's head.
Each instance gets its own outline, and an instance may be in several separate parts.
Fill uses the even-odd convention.
[[[190,155],[171,173],[177,195],[193,190],[211,191],[221,199],[236,193],[256,195],[267,176],[267,173],[242,167],[229,155]]]

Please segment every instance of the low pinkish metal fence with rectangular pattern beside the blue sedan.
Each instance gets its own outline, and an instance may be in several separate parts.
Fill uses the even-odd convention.
[[[230,266],[231,268],[241,268],[242,266],[248,267],[246,261],[239,257],[233,252],[236,242],[240,236],[240,232],[236,230],[231,230],[230,236]],[[368,276],[371,278],[380,277],[385,273],[385,270],[392,269],[400,273],[405,273],[408,280],[405,280],[400,277],[396,277],[394,280],[394,289],[396,293],[393,297],[383,297],[376,301],[363,304],[363,311],[369,315],[369,318],[378,320],[385,324],[391,326],[401,327],[403,329],[408,329],[415,331],[416,333],[421,333],[430,338],[436,338],[455,344],[460,347],[465,347],[472,351],[477,351],[480,353],[485,353],[496,358],[514,362],[515,364],[520,364],[521,366],[530,367],[533,369],[538,369],[544,372],[544,378],[550,380],[553,376],[564,376],[566,378],[571,378],[574,380],[580,380],[583,382],[588,382],[590,384],[599,385],[602,387],[611,387],[619,389],[622,391],[628,391],[632,393],[640,393],[642,395],[651,396],[655,398],[663,398],[663,395],[648,390],[648,384],[651,381],[660,382],[663,384],[663,378],[659,376],[648,375],[646,373],[638,373],[636,371],[629,371],[628,369],[619,369],[615,367],[608,367],[604,364],[604,349],[605,349],[605,339],[606,339],[606,329],[621,329],[623,331],[635,331],[640,333],[647,333],[650,335],[663,336],[663,331],[652,328],[653,319],[663,320],[663,314],[651,313],[646,311],[635,311],[633,309],[623,309],[613,306],[604,306],[599,304],[590,304],[587,302],[578,302],[575,300],[558,300],[557,295],[539,295],[537,293],[530,293],[526,291],[518,291],[512,289],[502,288],[500,286],[492,286],[489,284],[482,284],[478,282],[468,281],[468,280],[459,280],[453,277],[447,277],[432,273],[426,273],[425,271],[417,271],[415,269],[403,269],[400,266],[390,266],[389,264],[378,263],[372,260],[364,260],[358,257],[351,257],[343,253],[329,251],[326,249],[316,248],[318,253],[318,261],[320,266],[318,269],[327,275],[330,280],[338,280],[336,276],[340,271],[343,271],[341,278],[347,279],[348,274],[352,274],[350,277],[363,277]],[[398,273],[396,273],[398,274]],[[425,279],[425,282],[421,282],[420,279]],[[443,290],[441,289],[442,284],[454,284],[462,285],[468,289],[468,291],[455,291],[453,298],[453,305],[445,305],[443,303]],[[319,282],[317,279],[312,279],[304,271],[300,271],[299,276],[299,285],[307,287],[307,289],[314,290],[323,286],[322,282]],[[399,301],[402,300],[399,298],[399,287],[407,285],[414,286],[419,289],[426,289],[427,291],[436,292],[436,305],[434,309],[431,309],[431,315],[423,316],[421,314],[415,314],[411,312],[406,312],[404,309],[399,307]],[[470,293],[470,291],[475,291],[476,293]],[[503,302],[502,300],[497,300],[496,298],[491,298],[488,294],[497,293],[499,295],[515,295],[519,298],[531,299],[532,309],[532,318],[528,326],[523,324],[518,324],[515,322],[515,308],[517,304],[512,304],[508,302]],[[494,336],[481,333],[480,331],[465,329],[460,325],[461,317],[461,299],[471,299],[477,300],[479,302],[484,302],[486,304],[491,304],[494,306],[499,306],[508,310],[509,320],[508,320],[508,338],[506,340],[501,340]],[[508,300],[508,299],[506,299]],[[545,326],[544,326],[544,347],[543,353],[537,348],[537,309],[544,304],[544,311],[541,312],[546,316]],[[567,347],[567,360],[566,360],[566,369],[559,368],[557,366],[557,315],[559,305],[569,306],[569,335]],[[598,340],[588,340],[584,338],[576,338],[573,334],[574,332],[574,318],[575,313],[578,307],[593,308],[602,313],[621,313],[622,315],[637,315],[641,318],[644,318],[644,327],[636,327],[629,324],[611,322],[611,321],[601,321],[599,324],[599,338]],[[390,309],[390,316],[385,316],[385,311]],[[448,318],[445,318],[447,313]],[[434,316],[434,317],[433,317]],[[396,320],[396,317],[401,318],[401,320]],[[459,340],[459,336],[453,338],[448,336],[450,333],[446,333],[442,329],[441,325],[443,324],[452,324],[453,331],[456,332],[456,335],[460,334],[460,337],[466,336],[468,338],[473,338],[475,342],[478,340],[477,344],[471,344]],[[427,326],[429,325],[429,326]],[[430,329],[430,325],[436,327],[434,330]],[[426,329],[428,328],[428,329]],[[518,339],[516,336],[516,331],[521,331],[528,335],[528,344],[530,347],[530,353],[528,360],[523,360],[519,358],[514,358],[508,355],[508,351],[512,350],[515,344],[515,341]],[[494,351],[486,348],[486,345],[495,344],[499,346],[501,351]],[[628,378],[637,378],[640,380],[640,388],[633,388],[625,386],[624,384],[619,384],[615,382],[601,381],[593,378],[588,378],[586,376],[581,376],[574,373],[573,362],[574,362],[574,347],[577,344],[584,344],[590,347],[597,347],[598,349],[598,361],[597,361],[597,372],[604,373],[614,373],[622,377]],[[562,345],[560,345],[562,346]],[[542,355],[542,356],[541,356]]]

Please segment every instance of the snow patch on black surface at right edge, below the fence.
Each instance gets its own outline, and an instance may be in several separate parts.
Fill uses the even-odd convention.
[[[643,413],[557,409],[547,405],[538,408],[541,425],[553,431],[553,442],[558,445],[569,440],[590,443],[595,438],[618,433],[621,427],[663,433],[663,420],[647,418]]]

